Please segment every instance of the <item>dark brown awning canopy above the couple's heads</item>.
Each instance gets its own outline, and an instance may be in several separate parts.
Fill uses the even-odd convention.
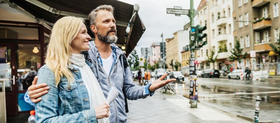
[[[15,3],[17,6],[28,11],[30,14],[35,16],[38,19],[45,20],[49,26],[52,26],[51,23],[55,23],[58,19],[62,18],[63,12],[67,12],[67,15],[79,16],[87,18],[87,15],[96,7],[100,5],[112,5],[114,7],[114,18],[116,19],[116,28],[118,42],[116,45],[119,47],[125,45],[125,40],[127,40],[126,46],[126,55],[128,55],[137,45],[139,39],[145,31],[145,26],[142,23],[142,20],[136,13],[134,17],[134,25],[130,35],[126,33],[126,28],[129,20],[131,20],[134,10],[133,5],[128,3],[120,2],[117,0],[10,0],[10,2]],[[51,7],[49,10],[44,9],[44,6]],[[57,10],[57,11],[50,11]],[[60,12],[62,11],[62,12]],[[59,15],[60,13],[60,15]],[[86,20],[86,26],[89,29],[89,20]],[[91,37],[94,35],[91,31],[88,31]]]

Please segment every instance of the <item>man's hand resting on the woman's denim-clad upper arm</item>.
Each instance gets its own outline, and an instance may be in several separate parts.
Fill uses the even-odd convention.
[[[32,85],[28,88],[28,95],[31,101],[34,103],[40,102],[42,100],[41,96],[48,93],[49,86],[46,83],[36,84],[38,76],[35,76]]]

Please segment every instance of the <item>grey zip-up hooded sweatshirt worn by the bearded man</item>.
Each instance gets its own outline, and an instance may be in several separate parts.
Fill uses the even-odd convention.
[[[111,48],[115,49],[115,57],[117,57],[117,59],[114,66],[110,65],[112,68],[110,75],[108,76],[99,62],[100,56],[94,41],[89,42],[89,44],[89,61],[93,64],[91,70],[96,76],[105,98],[107,98],[112,86],[114,86],[119,91],[119,96],[114,100],[114,102],[110,104],[110,122],[126,122],[127,115],[125,112],[124,94],[122,91],[123,86],[126,93],[126,98],[129,100],[146,98],[149,95],[152,96],[153,93],[147,93],[147,86],[135,86],[135,84],[133,84],[129,66],[126,68],[124,67],[123,55],[125,52],[123,52],[118,46],[113,43],[111,44]]]

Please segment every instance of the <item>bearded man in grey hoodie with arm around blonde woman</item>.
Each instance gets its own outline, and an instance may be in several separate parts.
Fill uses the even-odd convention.
[[[142,87],[133,84],[125,53],[114,44],[118,38],[113,11],[112,6],[101,5],[89,14],[90,28],[95,35],[95,41],[90,42],[88,57],[93,64],[91,70],[98,79],[105,97],[108,96],[111,86],[118,89],[120,93],[110,104],[110,122],[126,122],[125,98],[136,100],[152,96],[156,89],[175,81],[175,79],[161,81],[166,77],[165,74],[153,84]],[[34,103],[39,102],[42,99],[41,96],[49,89],[46,84],[35,85],[37,78],[27,92]],[[30,99],[26,100],[26,102],[31,103]]]

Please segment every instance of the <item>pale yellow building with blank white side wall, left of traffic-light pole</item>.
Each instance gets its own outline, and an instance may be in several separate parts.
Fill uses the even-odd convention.
[[[165,39],[166,41],[166,64],[168,65],[167,71],[173,71],[169,65],[171,61],[182,62],[181,51],[183,47],[189,45],[189,30],[179,30],[175,32],[173,38]]]

